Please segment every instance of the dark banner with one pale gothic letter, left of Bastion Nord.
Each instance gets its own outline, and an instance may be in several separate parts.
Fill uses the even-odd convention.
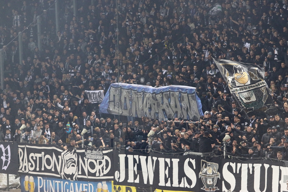
[[[0,142],[0,173],[17,174],[18,168],[18,144]],[[12,163],[13,162],[13,163]]]

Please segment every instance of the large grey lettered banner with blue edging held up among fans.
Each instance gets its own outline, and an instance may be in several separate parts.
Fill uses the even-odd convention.
[[[195,87],[170,85],[154,88],[126,83],[111,84],[103,102],[101,113],[130,117],[149,117],[199,120],[202,105]]]

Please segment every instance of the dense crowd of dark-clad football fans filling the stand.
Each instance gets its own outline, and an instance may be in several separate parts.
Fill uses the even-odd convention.
[[[59,3],[57,33],[54,3],[1,6],[0,140],[19,142],[24,124],[23,142],[72,149],[86,128],[85,146],[149,152],[148,134],[155,133],[151,149],[161,153],[222,155],[229,135],[227,154],[288,159],[287,0],[82,0],[76,15],[66,0]],[[39,15],[42,50],[33,22]],[[246,115],[213,58],[263,67],[276,112]],[[106,93],[117,82],[196,87],[204,116],[186,123],[100,114],[84,91]]]

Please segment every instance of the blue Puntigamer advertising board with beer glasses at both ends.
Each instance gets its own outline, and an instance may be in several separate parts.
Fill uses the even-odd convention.
[[[111,181],[88,182],[56,179],[35,175],[21,175],[21,192],[111,192]]]

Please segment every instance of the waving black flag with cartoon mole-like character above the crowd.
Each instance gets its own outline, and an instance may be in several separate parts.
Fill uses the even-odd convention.
[[[246,112],[271,107],[271,96],[264,81],[264,69],[246,63],[229,60],[214,60],[230,92]]]

